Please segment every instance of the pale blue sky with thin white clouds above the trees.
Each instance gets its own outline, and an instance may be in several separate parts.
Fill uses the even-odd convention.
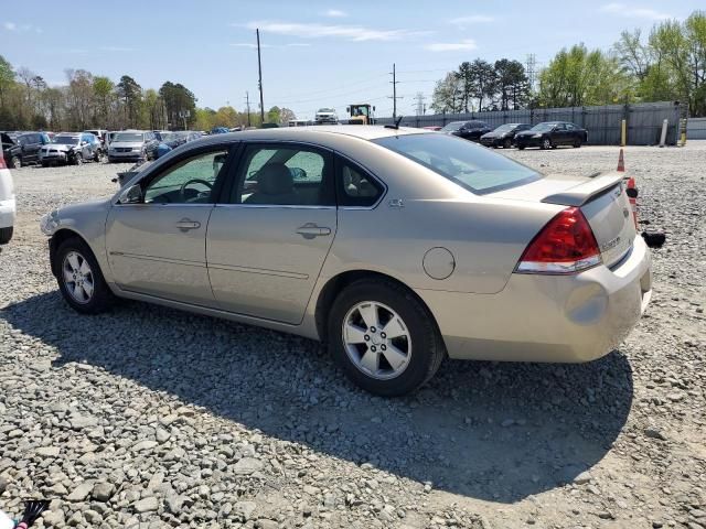
[[[152,0],[68,7],[34,0],[7,9],[0,0],[0,54],[51,85],[66,68],[143,88],[182,83],[200,107],[258,110],[255,29],[260,29],[265,108],[311,119],[321,107],[342,118],[349,104],[392,115],[393,64],[398,115],[414,115],[417,94],[431,102],[436,80],[463,61],[507,57],[537,68],[564,46],[608,50],[622,30],[683,20],[703,0],[368,1]],[[14,6],[17,7],[17,6]]]

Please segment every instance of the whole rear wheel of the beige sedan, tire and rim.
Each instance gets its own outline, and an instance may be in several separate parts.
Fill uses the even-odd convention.
[[[356,281],[339,294],[328,342],[345,375],[383,397],[415,391],[446,356],[427,309],[404,287],[384,279]]]

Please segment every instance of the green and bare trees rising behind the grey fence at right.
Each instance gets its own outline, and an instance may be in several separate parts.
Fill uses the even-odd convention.
[[[461,63],[437,82],[438,112],[513,110],[678,100],[706,116],[706,12],[656,23],[643,37],[624,31],[609,51],[584,44],[560,50],[530,86],[518,61]]]

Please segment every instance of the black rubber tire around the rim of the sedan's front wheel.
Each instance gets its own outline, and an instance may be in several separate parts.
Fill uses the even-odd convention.
[[[76,298],[69,293],[69,289],[72,287],[67,284],[63,271],[66,256],[72,252],[77,253],[79,257],[85,259],[90,267],[93,294],[84,302],[77,301]],[[72,237],[63,241],[56,249],[54,259],[55,262],[52,262],[52,270],[55,270],[56,272],[58,289],[61,290],[66,303],[68,303],[73,310],[82,314],[100,314],[113,306],[115,303],[115,295],[106,284],[103,272],[100,271],[100,267],[98,266],[98,261],[94,257],[93,251],[90,251],[90,248],[83,239]]]

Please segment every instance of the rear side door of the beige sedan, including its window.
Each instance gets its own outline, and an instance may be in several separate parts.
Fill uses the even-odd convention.
[[[223,310],[301,322],[336,231],[332,153],[277,142],[245,145],[206,235]]]

